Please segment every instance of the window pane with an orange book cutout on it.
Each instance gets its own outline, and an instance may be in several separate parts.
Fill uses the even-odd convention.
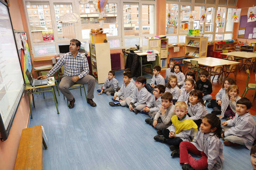
[[[180,6],[180,32],[179,33],[188,33],[190,22],[188,21],[190,12],[190,5],[181,5]],[[180,38],[179,38],[180,39]],[[180,40],[179,40],[180,42]],[[185,42],[185,39],[184,41]]]

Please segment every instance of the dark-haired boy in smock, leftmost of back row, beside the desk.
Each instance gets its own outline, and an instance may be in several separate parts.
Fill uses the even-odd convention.
[[[164,77],[160,74],[160,71],[161,67],[159,65],[153,67],[153,77],[151,82],[150,84],[146,84],[148,92],[152,92],[156,85],[165,85]]]

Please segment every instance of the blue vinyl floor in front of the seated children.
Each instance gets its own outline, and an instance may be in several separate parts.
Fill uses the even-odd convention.
[[[116,71],[115,78],[121,86],[123,71]],[[60,93],[57,96],[59,115],[51,92],[45,92],[45,99],[43,95],[34,96],[36,107],[32,108],[29,127],[42,124],[48,138],[48,150],[43,150],[43,169],[181,169],[180,159],[171,157],[169,146],[154,140],[156,129],[144,121],[149,117],[135,115],[127,107],[110,107],[108,102],[112,96],[96,92],[101,85],[95,85],[96,107],[91,107],[84,93],[80,96],[80,90],[76,89],[71,91],[76,99],[75,107],[69,109]],[[212,110],[207,109],[209,113]],[[223,148],[223,170],[252,169],[248,149]]]

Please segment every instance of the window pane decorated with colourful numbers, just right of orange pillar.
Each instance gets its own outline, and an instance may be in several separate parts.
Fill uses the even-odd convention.
[[[178,10],[179,10],[179,4],[166,4],[167,17],[166,17],[165,28],[166,28],[167,34],[177,33],[178,15],[179,15]],[[176,42],[177,42],[177,36],[176,36]]]

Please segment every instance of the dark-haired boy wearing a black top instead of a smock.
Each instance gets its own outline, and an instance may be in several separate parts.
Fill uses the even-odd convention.
[[[209,78],[209,72],[207,70],[201,70],[199,72],[200,79],[196,81],[196,90],[203,92],[203,100],[212,100],[212,83]]]

